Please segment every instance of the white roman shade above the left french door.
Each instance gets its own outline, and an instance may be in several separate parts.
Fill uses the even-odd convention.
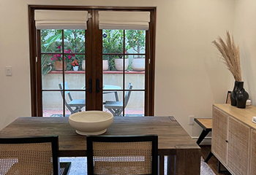
[[[87,11],[41,10],[34,11],[37,29],[87,29]]]

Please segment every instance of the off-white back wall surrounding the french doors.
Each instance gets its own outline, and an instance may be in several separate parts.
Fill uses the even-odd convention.
[[[157,7],[155,115],[174,115],[198,136],[188,116],[211,117],[212,104],[225,101],[230,73],[211,41],[233,31],[233,0],[1,0],[0,129],[31,115],[28,4]]]

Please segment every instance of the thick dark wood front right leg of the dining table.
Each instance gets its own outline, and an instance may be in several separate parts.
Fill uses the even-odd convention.
[[[200,149],[176,149],[176,175],[200,175]]]

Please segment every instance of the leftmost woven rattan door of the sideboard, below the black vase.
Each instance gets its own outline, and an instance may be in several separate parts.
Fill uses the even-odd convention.
[[[227,163],[227,119],[227,114],[213,108],[211,150],[224,165]]]

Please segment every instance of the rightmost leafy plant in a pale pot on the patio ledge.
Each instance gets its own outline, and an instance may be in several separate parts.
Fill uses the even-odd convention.
[[[131,49],[136,53],[141,53],[145,50],[145,31],[129,30],[126,32],[128,49]],[[145,71],[145,57],[144,55],[134,55],[132,59],[132,70]]]

